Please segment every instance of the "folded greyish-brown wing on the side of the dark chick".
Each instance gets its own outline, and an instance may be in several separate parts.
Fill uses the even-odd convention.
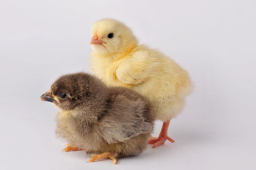
[[[100,123],[102,137],[108,144],[124,142],[140,134],[152,131],[152,124],[143,118],[146,108],[124,104],[121,108],[113,109]],[[122,108],[123,107],[123,108]]]

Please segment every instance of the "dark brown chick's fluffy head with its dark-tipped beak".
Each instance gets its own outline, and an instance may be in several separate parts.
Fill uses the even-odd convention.
[[[67,74],[57,79],[40,100],[50,101],[62,111],[79,110],[96,103],[96,97],[104,96],[103,91],[97,91],[98,86],[104,90],[100,80],[89,74]]]

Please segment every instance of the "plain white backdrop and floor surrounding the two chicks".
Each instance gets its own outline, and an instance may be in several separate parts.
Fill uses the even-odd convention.
[[[0,169],[255,169],[254,0],[0,0]],[[57,108],[39,101],[57,77],[89,72],[91,25],[116,18],[187,69],[194,93],[169,127],[174,145],[86,163],[61,152]],[[157,122],[155,135],[162,123]]]

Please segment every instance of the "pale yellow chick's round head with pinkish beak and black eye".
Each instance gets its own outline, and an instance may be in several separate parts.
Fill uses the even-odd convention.
[[[138,44],[130,28],[113,18],[105,18],[91,27],[92,50],[101,55],[123,53]]]

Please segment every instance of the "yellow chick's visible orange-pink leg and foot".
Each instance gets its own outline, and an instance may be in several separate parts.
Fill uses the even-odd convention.
[[[169,140],[169,142],[172,142],[172,143],[175,142],[174,140],[172,140],[171,137],[168,137],[168,135],[167,135],[167,131],[168,131],[170,121],[171,120],[166,120],[162,124],[162,130],[161,130],[160,135],[158,137],[151,137],[150,138],[150,140],[148,141],[148,144],[154,144],[152,148],[159,147],[160,145],[163,145],[166,140]]]

